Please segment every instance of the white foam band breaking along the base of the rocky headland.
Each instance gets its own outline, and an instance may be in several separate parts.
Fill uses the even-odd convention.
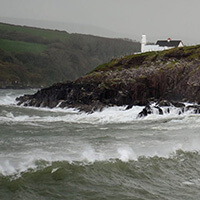
[[[89,124],[112,124],[112,123],[133,123],[138,120],[151,121],[151,120],[180,120],[187,118],[187,121],[192,121],[191,116],[194,116],[191,111],[185,112],[179,115],[179,109],[171,107],[170,113],[165,112],[163,115],[159,115],[157,111],[144,118],[138,118],[138,113],[142,111],[144,107],[134,106],[132,109],[126,110],[126,107],[109,107],[105,108],[101,112],[94,112],[91,114],[78,112],[74,109],[47,109],[37,108],[38,114],[34,115],[20,115],[19,113],[4,112],[0,113],[1,122],[69,122],[69,123],[89,123]],[[30,108],[23,108],[30,109]],[[32,108],[31,108],[32,109]],[[166,108],[167,109],[167,108]],[[49,112],[49,115],[41,116],[40,111]],[[31,113],[31,111],[30,111]],[[34,112],[35,113],[35,112]],[[52,114],[52,113],[55,113]],[[196,115],[195,115],[196,116]],[[200,121],[200,118],[198,119]],[[185,121],[184,121],[185,123]],[[194,126],[199,126],[194,124]]]

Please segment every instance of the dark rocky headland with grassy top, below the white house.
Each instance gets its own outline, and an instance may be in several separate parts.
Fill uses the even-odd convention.
[[[200,46],[111,60],[76,81],[53,85],[18,101],[92,111],[162,99],[200,103]]]

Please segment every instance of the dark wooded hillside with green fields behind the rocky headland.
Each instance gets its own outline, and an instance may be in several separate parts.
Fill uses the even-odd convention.
[[[0,23],[0,88],[46,87],[75,80],[139,42]]]

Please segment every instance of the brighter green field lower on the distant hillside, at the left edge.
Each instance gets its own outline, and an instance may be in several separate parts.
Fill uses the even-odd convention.
[[[0,39],[0,49],[8,52],[16,52],[16,53],[29,52],[37,54],[46,50],[47,46],[37,43]]]

